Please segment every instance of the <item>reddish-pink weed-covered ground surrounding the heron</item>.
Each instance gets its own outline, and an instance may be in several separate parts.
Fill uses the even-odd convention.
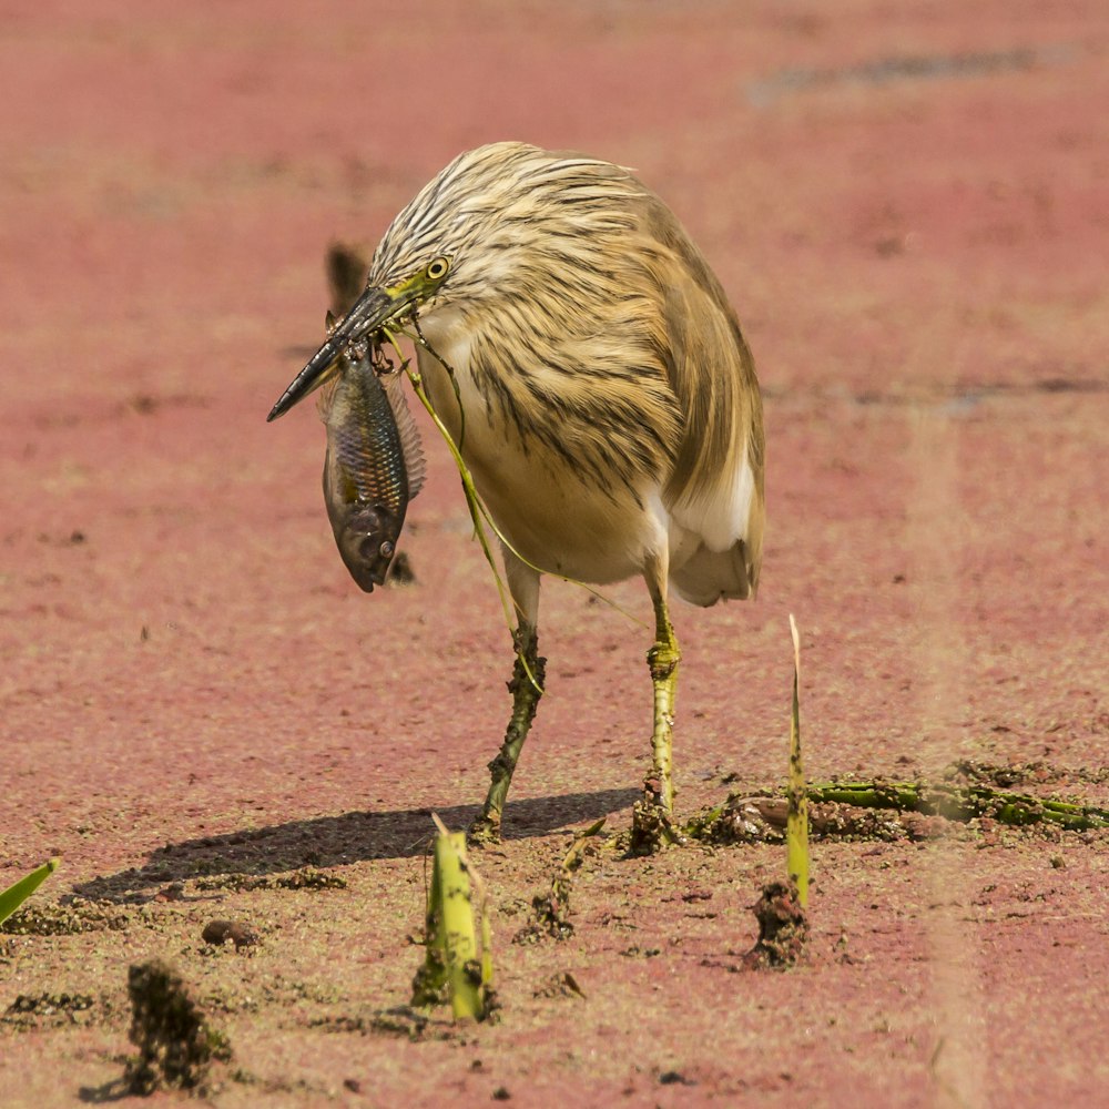
[[[37,902],[93,929],[0,937],[0,1103],[116,1096],[153,955],[231,1039],[218,1106],[1105,1103],[1096,834],[817,843],[787,974],[740,969],[771,845],[602,853],[573,937],[512,944],[648,757],[648,633],[562,583],[482,858],[502,1020],[375,1030],[509,639],[430,436],[416,584],[367,598],[309,406],[265,414],[322,334],[326,244],[372,246],[459,150],[633,165],[766,400],[760,599],[675,612],[679,806],[782,780],[788,612],[813,777],[971,760],[1103,805],[1107,47],[1095,2],[0,3],[0,883],[60,854]],[[340,887],[276,884],[306,866]],[[213,917],[262,943],[207,948]]]

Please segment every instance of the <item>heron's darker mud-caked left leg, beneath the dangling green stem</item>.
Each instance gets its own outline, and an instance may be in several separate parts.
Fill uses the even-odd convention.
[[[512,782],[512,772],[528,737],[536,709],[543,692],[545,665],[539,657],[539,637],[536,622],[539,613],[539,574],[525,566],[510,551],[505,552],[505,571],[508,587],[519,615],[512,637],[516,664],[508,690],[512,694],[512,715],[505,731],[505,742],[497,756],[489,763],[491,782],[481,812],[470,825],[471,843],[497,843],[500,840],[500,818],[505,798]]]

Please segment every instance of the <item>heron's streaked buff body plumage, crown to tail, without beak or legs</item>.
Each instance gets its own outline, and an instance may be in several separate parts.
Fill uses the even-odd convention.
[[[763,527],[754,366],[720,283],[667,205],[608,162],[498,143],[457,157],[400,212],[368,284],[389,286],[439,256],[451,271],[419,323],[458,374],[464,454],[482,495],[508,499],[498,495],[507,446],[523,462],[513,474],[536,490],[572,481],[618,515],[660,499],[678,591],[702,604],[745,597]],[[457,429],[454,389],[420,360]],[[599,557],[590,529],[558,564],[548,552],[571,545],[542,520],[517,521],[527,513],[512,499],[495,517],[545,569],[590,581],[641,569],[624,527],[612,529],[620,558]],[[561,512],[557,525],[573,526]],[[527,531],[542,532],[538,547]]]

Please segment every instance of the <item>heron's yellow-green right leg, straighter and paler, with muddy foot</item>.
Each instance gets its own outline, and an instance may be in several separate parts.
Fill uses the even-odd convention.
[[[654,686],[654,730],[651,734],[651,773],[643,782],[643,800],[632,817],[632,846],[651,851],[675,838],[671,825],[674,808],[673,734],[678,663],[681,651],[667,608],[667,561],[652,559],[644,577],[654,604],[654,645],[647,652]]]

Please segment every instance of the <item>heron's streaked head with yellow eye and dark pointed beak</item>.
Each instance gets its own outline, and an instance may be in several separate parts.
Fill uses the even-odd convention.
[[[448,308],[550,294],[552,317],[588,311],[604,281],[599,244],[628,222],[611,202],[638,193],[631,175],[594,159],[505,142],[459,154],[386,231],[365,292],[269,413],[284,415],[335,372],[343,352],[380,328]],[[608,252],[607,266],[615,252]]]

